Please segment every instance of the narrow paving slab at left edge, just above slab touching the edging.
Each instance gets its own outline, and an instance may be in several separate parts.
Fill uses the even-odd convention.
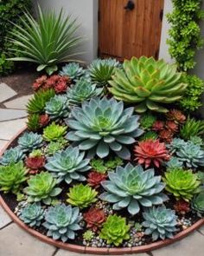
[[[25,110],[0,108],[0,121],[9,121],[26,117],[28,114]]]

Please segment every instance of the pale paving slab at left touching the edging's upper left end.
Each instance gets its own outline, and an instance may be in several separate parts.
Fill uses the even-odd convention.
[[[25,127],[27,119],[3,121],[0,124],[0,140],[10,140],[17,132]],[[1,255],[1,254],[0,254]]]

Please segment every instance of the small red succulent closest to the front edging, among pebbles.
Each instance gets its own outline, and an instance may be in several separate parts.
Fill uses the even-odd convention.
[[[105,212],[91,207],[88,212],[84,213],[84,220],[87,222],[86,227],[92,228],[92,231],[96,232],[99,226],[105,222]]]

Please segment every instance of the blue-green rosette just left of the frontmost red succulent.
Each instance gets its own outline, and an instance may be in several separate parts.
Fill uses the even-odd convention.
[[[48,208],[43,226],[48,229],[48,236],[66,242],[75,239],[75,232],[81,229],[79,225],[81,219],[78,207],[72,208],[62,204]]]

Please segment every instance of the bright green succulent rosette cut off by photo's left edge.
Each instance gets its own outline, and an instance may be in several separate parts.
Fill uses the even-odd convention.
[[[22,183],[27,180],[27,173],[22,161],[12,162],[6,167],[0,166],[0,190],[3,193],[18,194]]]

